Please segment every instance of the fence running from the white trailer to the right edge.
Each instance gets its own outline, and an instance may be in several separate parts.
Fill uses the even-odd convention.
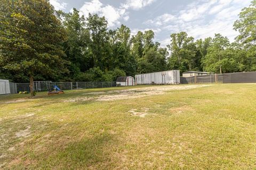
[[[181,77],[182,84],[188,83],[256,83],[256,72],[239,72],[225,74],[198,75]]]

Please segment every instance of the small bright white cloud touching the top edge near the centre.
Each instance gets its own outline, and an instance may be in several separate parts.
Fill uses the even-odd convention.
[[[121,7],[125,9],[132,8],[133,10],[139,10],[155,1],[156,0],[126,0],[125,4],[122,4]]]

